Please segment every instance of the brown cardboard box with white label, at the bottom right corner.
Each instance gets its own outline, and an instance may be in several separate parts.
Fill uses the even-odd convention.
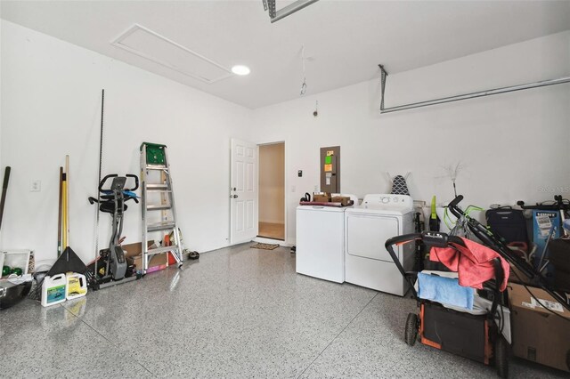
[[[542,308],[525,286],[509,283],[513,354],[570,372],[570,311],[546,291],[528,289],[556,314]]]

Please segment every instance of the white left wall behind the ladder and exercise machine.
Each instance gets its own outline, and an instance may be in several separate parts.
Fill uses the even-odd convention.
[[[250,109],[4,20],[1,80],[0,157],[12,165],[4,248],[55,258],[58,170],[69,154],[70,246],[93,258],[87,197],[96,196],[102,88],[103,175],[138,174],[141,142],[167,144],[186,244],[200,252],[227,245],[230,139],[250,139]],[[33,180],[40,192],[29,191]],[[110,217],[101,220],[106,246]],[[141,240],[140,205],[129,205],[124,235]]]

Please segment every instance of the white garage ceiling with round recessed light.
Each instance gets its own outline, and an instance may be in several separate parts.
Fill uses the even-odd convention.
[[[290,3],[277,0],[278,9]],[[309,95],[377,78],[378,63],[402,72],[570,29],[568,1],[321,0],[273,24],[261,0],[2,1],[0,12],[4,20],[250,109],[299,96],[302,45]],[[166,67],[159,57],[111,44],[135,24],[222,70],[245,64],[251,74],[200,80],[188,75],[191,68]]]

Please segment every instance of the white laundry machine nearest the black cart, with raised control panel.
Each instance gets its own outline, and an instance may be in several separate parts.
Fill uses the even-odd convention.
[[[413,233],[413,200],[407,195],[366,195],[361,206],[345,212],[345,280],[403,296],[408,283],[384,244],[388,238]],[[414,244],[397,246],[404,270],[411,270]]]

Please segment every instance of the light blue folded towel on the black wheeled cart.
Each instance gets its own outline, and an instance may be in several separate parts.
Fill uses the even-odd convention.
[[[473,309],[473,288],[460,286],[457,278],[444,278],[419,272],[418,288],[418,296],[421,299],[442,302],[466,310]]]

